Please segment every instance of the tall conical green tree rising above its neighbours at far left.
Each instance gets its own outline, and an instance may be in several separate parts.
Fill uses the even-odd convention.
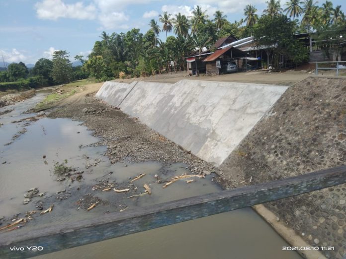
[[[67,51],[53,53],[52,77],[57,83],[69,83],[72,79],[72,64]]]

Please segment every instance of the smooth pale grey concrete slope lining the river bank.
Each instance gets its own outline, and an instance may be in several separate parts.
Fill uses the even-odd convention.
[[[133,84],[128,92],[129,85],[106,82],[96,97],[119,106],[126,114],[138,117],[142,123],[216,166],[287,89],[195,80]]]

